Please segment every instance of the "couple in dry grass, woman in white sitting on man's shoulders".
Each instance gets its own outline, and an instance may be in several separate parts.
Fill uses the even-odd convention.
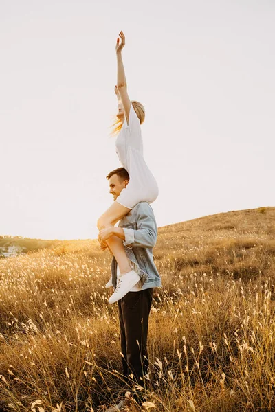
[[[122,62],[125,45],[123,32],[120,32],[120,39],[117,39],[115,48],[118,114],[113,133],[118,134],[115,146],[123,167],[107,176],[114,202],[98,219],[98,241],[100,249],[108,248],[113,255],[111,279],[106,287],[115,288],[109,303],[118,301],[125,381],[133,374],[138,384],[145,387],[144,375],[148,374],[148,316],[153,288],[161,286],[152,253],[157,242],[157,223],[149,205],[156,200],[158,187],[143,157],[140,125],[144,122],[144,107],[139,102],[131,101],[127,93]],[[115,227],[118,221],[119,226]],[[137,402],[140,401],[142,396],[137,398]],[[108,411],[126,411],[130,404],[131,400],[125,396]]]

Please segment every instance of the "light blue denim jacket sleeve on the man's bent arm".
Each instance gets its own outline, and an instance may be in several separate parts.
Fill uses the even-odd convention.
[[[137,229],[124,227],[124,246],[153,248],[157,242],[157,223],[151,206],[144,202],[138,205],[136,214]]]

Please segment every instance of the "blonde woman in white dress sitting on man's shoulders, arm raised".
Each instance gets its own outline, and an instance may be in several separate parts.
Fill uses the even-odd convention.
[[[126,77],[122,62],[122,49],[125,45],[123,32],[117,39],[116,56],[118,61],[118,84],[115,93],[118,96],[118,114],[115,123],[115,132],[118,137],[115,141],[116,152],[122,166],[130,176],[128,185],[122,189],[118,198],[111,207],[98,219],[98,240],[102,249],[104,244],[115,256],[118,262],[118,284],[109,303],[118,301],[129,292],[140,280],[140,276],[131,268],[131,261],[124,251],[122,239],[112,236],[112,227],[118,220],[129,213],[139,202],[152,203],[156,200],[159,190],[155,177],[148,169],[143,157],[143,142],[140,125],[144,122],[145,111],[140,102],[131,101],[127,93]],[[106,287],[111,286],[111,280]]]

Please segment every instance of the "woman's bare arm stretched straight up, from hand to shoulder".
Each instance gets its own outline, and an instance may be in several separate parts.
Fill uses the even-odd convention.
[[[125,76],[125,71],[124,71],[124,66],[123,66],[123,61],[122,61],[122,49],[125,45],[125,36],[123,32],[120,32],[120,38],[121,38],[121,43],[120,43],[120,39],[118,38],[116,41],[116,46],[115,46],[116,57],[118,60],[117,86],[118,86],[118,91],[120,93],[120,100],[124,108],[124,116],[125,116],[127,124],[129,124],[129,113],[130,113],[130,108],[131,108],[131,100],[129,99],[129,95],[127,93],[126,76]]]

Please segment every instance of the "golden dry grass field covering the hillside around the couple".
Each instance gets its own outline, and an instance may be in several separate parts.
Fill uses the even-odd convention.
[[[147,402],[132,411],[275,411],[275,207],[158,234]],[[97,240],[0,260],[1,411],[102,412],[120,396],[110,264]]]

